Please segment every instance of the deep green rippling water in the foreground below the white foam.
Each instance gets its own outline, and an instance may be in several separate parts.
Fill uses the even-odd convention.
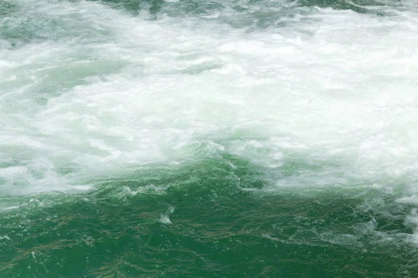
[[[155,165],[83,195],[3,197],[24,205],[2,213],[2,277],[417,274],[417,252],[403,243],[412,207],[394,204],[396,194],[257,193],[249,189],[263,181],[251,165],[231,161],[235,169],[219,159]]]

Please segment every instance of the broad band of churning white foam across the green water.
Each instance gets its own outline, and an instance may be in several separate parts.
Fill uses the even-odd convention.
[[[270,192],[401,186],[398,202],[418,202],[416,1],[365,13],[212,2],[183,15],[181,2],[158,16],[10,2],[0,194],[95,190],[144,165],[228,153],[258,167]],[[304,167],[286,176],[292,161]]]

